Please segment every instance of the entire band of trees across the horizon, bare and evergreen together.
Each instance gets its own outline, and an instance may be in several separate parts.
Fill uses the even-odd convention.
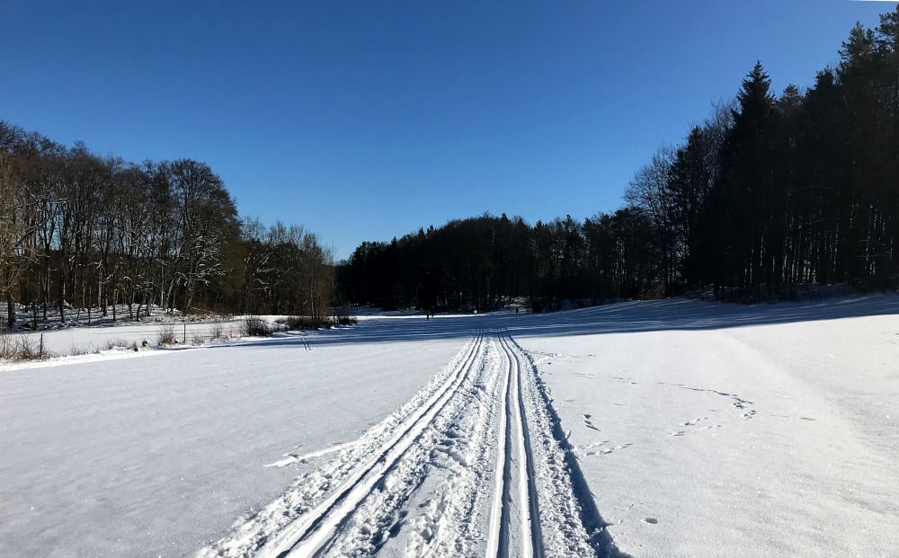
[[[899,286],[899,8],[805,91],[757,63],[733,102],[636,171],[625,205],[533,225],[480,217],[363,242],[238,217],[209,165],[132,164],[0,121],[0,297],[46,319],[150,305],[325,316],[338,302],[535,311],[621,298],[796,297]],[[573,207],[577,201],[573,200]],[[120,310],[122,311],[122,310]]]

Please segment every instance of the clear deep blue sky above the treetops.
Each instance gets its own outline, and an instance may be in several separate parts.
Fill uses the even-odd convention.
[[[242,215],[362,240],[619,207],[760,58],[813,83],[895,3],[6,2],[0,119],[205,161]]]

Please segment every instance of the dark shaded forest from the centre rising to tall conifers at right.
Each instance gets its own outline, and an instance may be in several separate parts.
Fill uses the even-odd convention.
[[[361,244],[340,270],[360,304],[536,309],[709,288],[899,285],[899,8],[857,24],[805,92],[757,63],[734,102],[636,172],[626,207],[531,226],[484,215]]]

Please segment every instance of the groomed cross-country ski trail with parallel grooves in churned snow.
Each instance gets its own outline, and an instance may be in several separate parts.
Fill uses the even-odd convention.
[[[618,555],[592,525],[533,359],[507,332],[475,332],[362,438],[271,465],[335,453],[198,558]]]

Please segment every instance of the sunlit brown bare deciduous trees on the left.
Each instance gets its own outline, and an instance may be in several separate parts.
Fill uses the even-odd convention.
[[[84,313],[328,315],[334,258],[301,226],[238,218],[208,164],[131,164],[0,120],[5,322]],[[18,304],[16,304],[18,303]],[[89,315],[89,314],[88,314]]]

